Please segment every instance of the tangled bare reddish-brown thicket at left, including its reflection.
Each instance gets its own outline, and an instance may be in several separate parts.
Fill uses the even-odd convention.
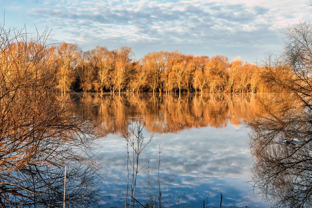
[[[72,62],[48,36],[0,25],[0,205],[62,207],[66,166],[66,207],[99,206],[94,125],[59,95]]]

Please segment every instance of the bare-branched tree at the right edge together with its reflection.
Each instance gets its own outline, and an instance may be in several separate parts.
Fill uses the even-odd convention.
[[[251,184],[273,207],[312,206],[311,21],[286,31],[285,51],[268,57],[261,71],[271,94],[258,95],[249,122],[253,160]],[[278,143],[285,137],[302,141]]]

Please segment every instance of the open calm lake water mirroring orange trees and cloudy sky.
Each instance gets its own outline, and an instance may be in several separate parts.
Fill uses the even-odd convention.
[[[77,94],[76,94],[77,95]],[[75,96],[76,96],[75,95]],[[247,131],[240,123],[251,116],[249,94],[166,94],[112,96],[78,95],[77,102],[95,105],[80,113],[92,113],[108,132],[97,157],[106,177],[103,207],[122,207],[127,191],[127,151],[122,132],[138,116],[146,122],[144,137],[153,135],[139,158],[136,199],[142,204],[149,194],[158,196],[158,142],[161,144],[159,181],[164,207],[268,207],[245,181],[251,169]],[[129,200],[128,200],[129,202]]]

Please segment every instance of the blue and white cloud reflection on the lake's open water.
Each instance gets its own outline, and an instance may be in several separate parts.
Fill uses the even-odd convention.
[[[154,139],[140,155],[141,165],[150,160],[150,192],[157,196],[158,140],[162,144],[160,186],[169,207],[176,206],[177,197],[185,206],[202,206],[201,199],[208,193],[208,204],[217,206],[221,192],[224,207],[266,207],[260,204],[258,197],[248,192],[243,183],[248,177],[251,163],[246,154],[245,134],[244,131],[236,132],[231,125],[224,129],[206,127],[179,134],[154,134]],[[148,132],[144,133],[146,138],[148,135]],[[127,154],[124,139],[116,135],[108,135],[107,138],[103,143],[108,148],[100,153],[105,158],[102,172],[107,176],[104,183],[109,194],[117,200],[125,197]],[[145,201],[148,195],[146,167],[139,172],[137,180],[137,197]]]

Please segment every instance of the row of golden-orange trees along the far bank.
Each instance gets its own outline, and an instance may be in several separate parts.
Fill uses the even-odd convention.
[[[17,43],[20,45],[21,43]],[[25,44],[25,43],[23,43]],[[32,43],[27,43],[32,44]],[[12,50],[14,51],[14,45]],[[33,47],[41,47],[33,44]],[[193,56],[179,51],[154,51],[134,60],[131,47],[82,51],[77,43],[45,49],[51,84],[65,93],[84,92],[209,92],[254,93],[262,90],[256,65],[227,56]]]

